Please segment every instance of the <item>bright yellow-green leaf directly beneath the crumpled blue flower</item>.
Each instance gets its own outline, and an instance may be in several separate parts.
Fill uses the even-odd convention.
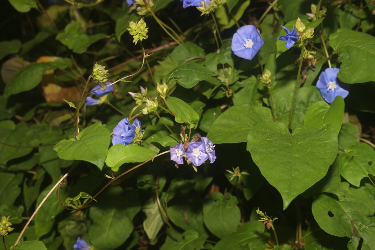
[[[118,168],[124,163],[144,162],[155,155],[155,151],[138,145],[129,144],[125,146],[124,144],[116,144],[108,150],[105,164],[112,168],[112,171],[118,171]]]

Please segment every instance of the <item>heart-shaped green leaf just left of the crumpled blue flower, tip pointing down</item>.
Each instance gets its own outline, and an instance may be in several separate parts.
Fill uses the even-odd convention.
[[[61,159],[84,160],[102,170],[110,142],[110,131],[98,121],[78,133],[77,140],[62,140],[53,149]]]

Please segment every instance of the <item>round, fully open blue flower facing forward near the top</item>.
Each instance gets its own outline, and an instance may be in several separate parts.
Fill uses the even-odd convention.
[[[232,51],[235,55],[251,60],[263,45],[257,28],[254,25],[245,25],[237,30],[232,39]]]

